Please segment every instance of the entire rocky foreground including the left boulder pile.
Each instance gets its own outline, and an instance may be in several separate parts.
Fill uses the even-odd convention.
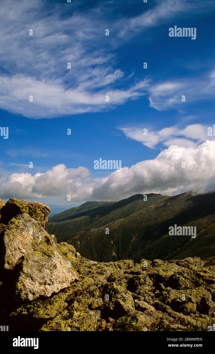
[[[99,263],[56,243],[49,207],[0,200],[0,325],[30,331],[208,331],[215,261]]]

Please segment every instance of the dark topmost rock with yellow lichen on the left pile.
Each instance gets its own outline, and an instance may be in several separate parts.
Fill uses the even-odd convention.
[[[8,222],[18,214],[29,214],[33,219],[38,221],[42,227],[45,227],[50,211],[47,205],[37,201],[30,202],[10,198],[0,210],[1,222],[8,224]]]

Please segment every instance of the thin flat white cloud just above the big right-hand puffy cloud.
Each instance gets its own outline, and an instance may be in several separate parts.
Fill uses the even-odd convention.
[[[177,125],[161,130],[152,129],[151,127],[148,127],[148,129],[146,127],[121,127],[119,129],[124,132],[126,137],[139,141],[151,149],[158,144],[197,147],[198,144],[209,138],[207,127],[202,124],[187,125],[184,129]],[[144,131],[144,129],[147,129],[147,131]]]

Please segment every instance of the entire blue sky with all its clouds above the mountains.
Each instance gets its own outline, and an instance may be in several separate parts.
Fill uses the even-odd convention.
[[[213,189],[214,12],[213,0],[3,0],[2,198],[78,205]],[[174,25],[196,39],[169,37]],[[122,171],[95,170],[99,158]]]

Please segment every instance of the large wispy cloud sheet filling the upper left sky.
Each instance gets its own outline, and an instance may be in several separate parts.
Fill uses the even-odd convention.
[[[114,68],[101,8],[81,13],[76,5],[65,16],[70,4],[2,1],[0,108],[50,118],[107,110],[144,95],[147,80],[127,82],[124,72]],[[118,88],[119,80],[126,86]]]

